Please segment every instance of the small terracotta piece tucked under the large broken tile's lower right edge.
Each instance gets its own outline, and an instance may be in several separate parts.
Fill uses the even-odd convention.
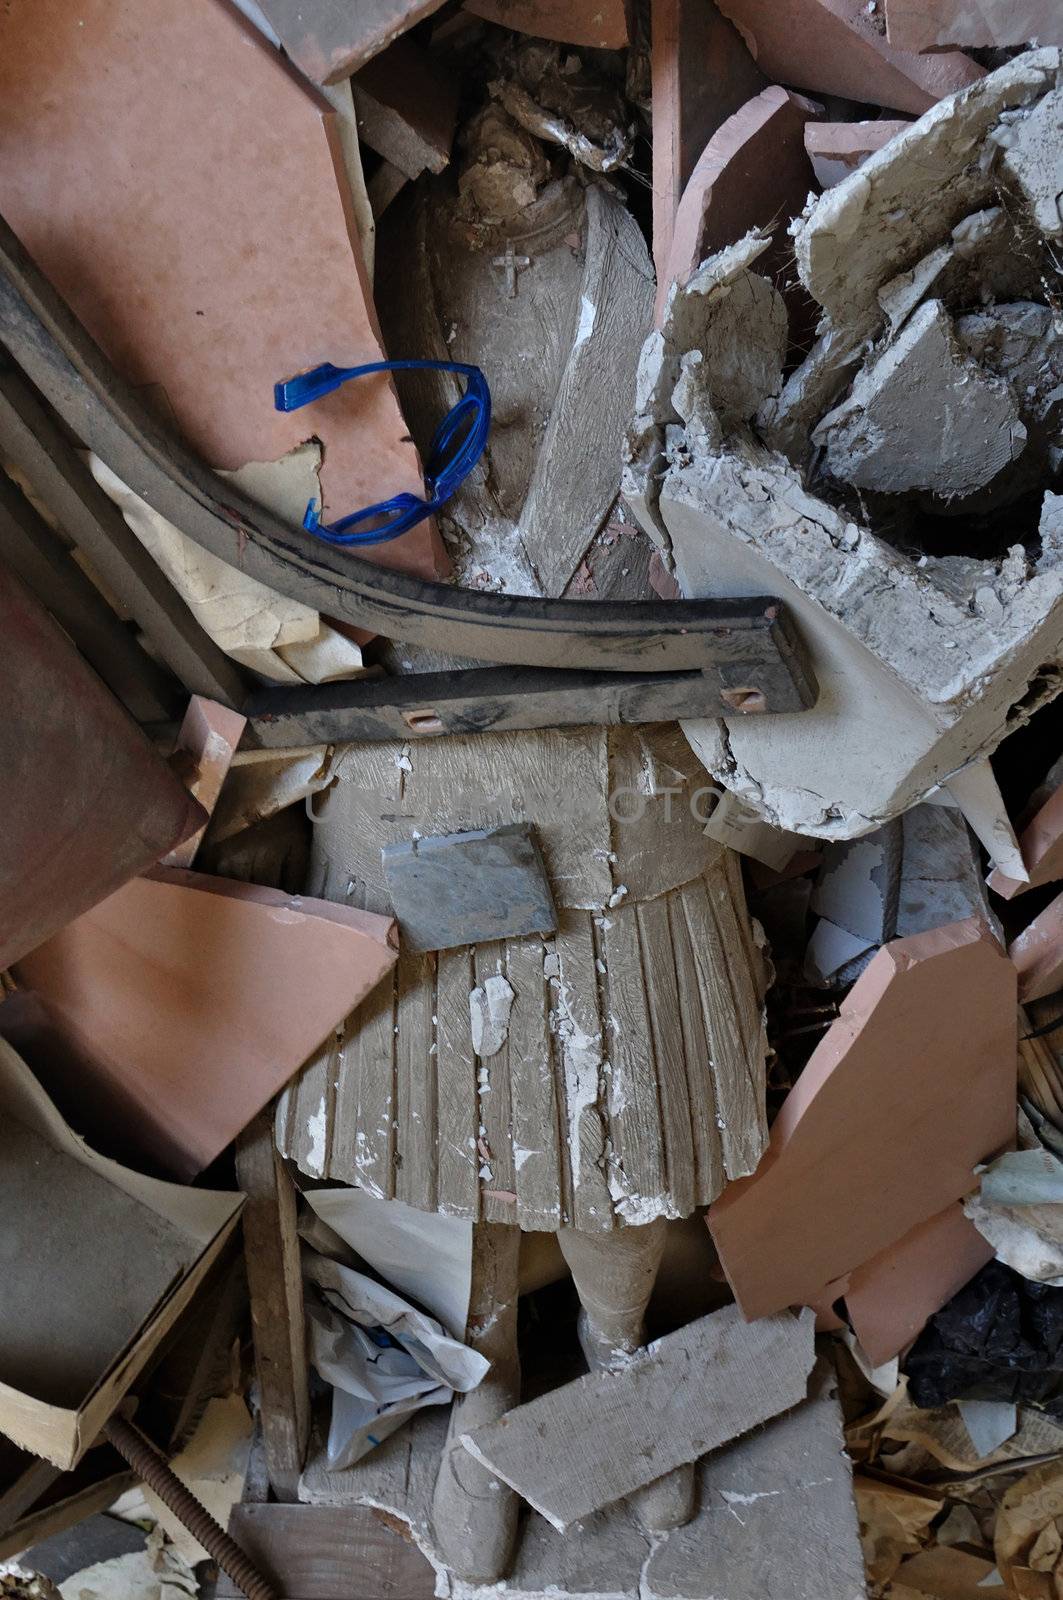
[[[871,1365],[900,1355],[986,1261],[993,1261],[993,1245],[953,1202],[856,1267],[845,1307]]]

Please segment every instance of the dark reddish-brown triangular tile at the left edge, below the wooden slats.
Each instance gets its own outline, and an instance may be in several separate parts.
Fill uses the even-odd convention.
[[[67,635],[0,565],[0,970],[205,821]]]

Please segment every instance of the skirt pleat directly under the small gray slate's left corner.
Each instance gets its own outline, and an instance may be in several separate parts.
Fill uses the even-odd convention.
[[[402,1165],[395,1173],[395,1198],[421,1211],[434,1211],[437,1195],[434,968],[434,955],[402,947],[395,1032],[395,1115]]]

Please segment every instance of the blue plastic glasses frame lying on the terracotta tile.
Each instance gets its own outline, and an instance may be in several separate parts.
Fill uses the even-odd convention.
[[[299,373],[298,378],[288,378],[274,386],[277,410],[298,411],[299,406],[322,400],[351,378],[363,378],[367,373],[403,371],[461,373],[466,379],[464,395],[447,413],[432,435],[424,462],[427,498],[392,494],[391,499],[365,506],[363,510],[354,510],[331,523],[320,520],[317,501],[311,501],[303,517],[303,526],[328,544],[384,544],[416,526],[418,522],[424,522],[450,499],[469,477],[487,445],[491,426],[491,392],[487,387],[487,378],[479,366],[466,366],[463,362],[368,362],[365,366],[333,366],[331,362],[325,362],[309,373]],[[373,526],[367,528],[365,523]]]

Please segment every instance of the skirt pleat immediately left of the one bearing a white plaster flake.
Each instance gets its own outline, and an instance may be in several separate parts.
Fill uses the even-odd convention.
[[[469,1026],[471,989],[471,952],[440,952],[435,995],[439,1203],[450,1216],[475,1222],[480,1216],[480,1155],[475,1147],[480,1112]]]

